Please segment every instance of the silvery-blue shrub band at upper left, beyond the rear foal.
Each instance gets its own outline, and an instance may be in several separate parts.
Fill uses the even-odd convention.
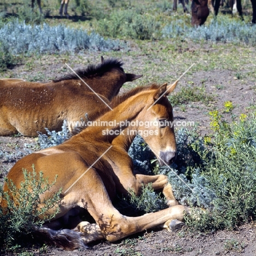
[[[0,28],[0,42],[8,45],[10,53],[63,53],[80,50],[120,50],[126,48],[119,40],[104,39],[96,33],[75,30],[65,26],[50,27],[47,24],[27,25],[19,21],[9,22]]]

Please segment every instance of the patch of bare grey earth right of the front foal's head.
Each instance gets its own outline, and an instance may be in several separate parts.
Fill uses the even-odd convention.
[[[231,101],[235,107],[234,114],[247,113],[246,108],[251,106],[255,97],[255,82],[246,82],[237,79],[235,72],[229,70],[197,72],[191,80],[196,86],[201,86],[202,79],[206,94],[213,96],[214,101],[205,106],[201,102],[186,105],[185,111],[180,107],[174,108],[174,118],[177,120],[194,121],[198,123],[201,135],[209,133],[210,115],[212,109],[223,109],[226,101]],[[226,117],[228,118],[228,117]]]

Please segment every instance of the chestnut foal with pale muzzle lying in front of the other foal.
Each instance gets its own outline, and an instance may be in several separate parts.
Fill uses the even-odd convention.
[[[160,122],[173,121],[172,106],[166,96],[176,84],[136,88],[114,98],[113,111],[102,110],[104,114],[97,118],[106,125],[89,126],[59,146],[25,156],[11,168],[7,178],[17,188],[24,181],[22,168],[31,172],[34,165],[36,171],[49,177],[50,183],[57,175],[54,187],[41,195],[42,201],[47,200],[62,189],[60,212],[37,230],[41,235],[47,234],[45,242],[51,240],[57,246],[74,249],[102,238],[113,242],[156,226],[168,228],[171,220],[183,220],[184,212],[189,209],[178,205],[167,177],[134,174],[127,154],[140,131],[160,164],[168,165],[173,161],[176,154],[174,129]],[[150,121],[156,125],[144,125]],[[112,199],[116,193],[127,194],[132,189],[138,195],[148,183],[152,183],[153,189],[163,191],[169,208],[139,217],[123,216],[114,208]],[[6,183],[4,191],[17,202]],[[2,200],[1,205],[5,208],[6,202]],[[79,223],[79,213],[85,210],[95,219],[95,224]],[[54,211],[55,208],[51,208],[48,213]],[[63,229],[77,224],[74,230]]]

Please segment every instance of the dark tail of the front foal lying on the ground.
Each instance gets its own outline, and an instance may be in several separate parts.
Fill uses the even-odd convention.
[[[53,230],[49,228],[36,226],[34,234],[49,245],[61,247],[68,251],[74,249],[86,249],[89,248],[83,242],[80,234],[81,232],[73,231],[70,229]]]

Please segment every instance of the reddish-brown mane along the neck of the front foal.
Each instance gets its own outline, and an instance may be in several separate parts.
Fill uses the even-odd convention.
[[[127,98],[130,98],[131,96],[136,95],[141,91],[158,89],[159,86],[160,85],[158,85],[158,84],[150,84],[147,86],[138,86],[136,88],[131,89],[130,91],[125,92],[123,95],[115,96],[113,98],[112,102],[109,104],[109,106],[113,109],[113,108],[117,107],[119,104],[121,104],[122,102],[124,102],[125,100],[127,100]],[[103,108],[100,109],[100,111],[92,113],[90,115],[90,117],[88,117],[89,120],[86,120],[86,121],[94,121],[109,111],[112,111],[112,110],[110,110],[108,106],[104,106]],[[76,135],[77,133],[86,129],[86,127],[88,127],[88,126],[85,125],[82,127],[75,127],[75,130],[72,131],[72,134]]]

